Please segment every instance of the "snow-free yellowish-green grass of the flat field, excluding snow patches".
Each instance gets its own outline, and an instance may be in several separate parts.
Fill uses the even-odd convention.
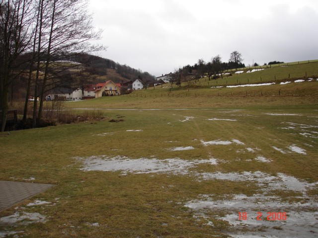
[[[104,100],[108,99],[122,100],[121,97]],[[100,107],[98,100],[91,100],[89,103],[94,101],[96,107]],[[185,101],[183,98],[183,103],[191,104],[192,100]],[[164,107],[167,106],[162,105]],[[36,182],[56,184],[54,188],[19,205],[23,207],[34,199],[56,203],[54,206],[25,207],[23,210],[39,212],[47,216],[48,221],[45,224],[11,229],[23,230],[25,237],[226,237],[230,229],[227,222],[212,219],[215,227],[203,225],[204,220],[196,221],[191,209],[183,204],[196,199],[200,194],[215,194],[215,198],[222,198],[241,193],[251,196],[259,192],[259,187],[252,181],[200,182],[190,175],[123,176],[120,172],[83,172],[79,170],[80,161],[74,157],[107,155],[132,159],[184,160],[213,157],[227,163],[216,166],[202,164],[191,171],[262,171],[270,175],[284,173],[309,182],[318,181],[318,140],[299,135],[302,130],[300,127],[282,129],[287,126],[286,122],[318,126],[317,106],[255,106],[246,107],[246,111],[231,113],[232,109],[237,108],[104,110],[109,119],[121,118],[124,121],[60,125],[12,131],[10,135],[2,135],[0,179],[15,178],[14,180],[23,181],[34,177]],[[297,116],[271,116],[267,113]],[[194,119],[181,122],[184,117]],[[207,120],[211,118],[237,121]],[[136,129],[142,131],[127,131]],[[317,128],[311,130],[317,131]],[[113,134],[97,135],[110,132]],[[219,139],[238,139],[245,145],[203,146],[200,142]],[[282,154],[272,148],[286,148],[291,144],[306,149],[307,155]],[[168,150],[179,146],[193,146],[195,149],[175,152]],[[251,153],[246,151],[246,147],[258,148],[259,151]],[[272,162],[256,162],[253,159],[257,155],[269,158]],[[299,196],[298,193],[273,193],[290,201]],[[317,189],[311,189],[309,194],[317,197]],[[15,211],[11,208],[2,211],[0,216],[10,215]],[[211,214],[215,216],[221,213],[222,211],[215,211]],[[99,223],[100,226],[92,227],[89,225],[92,223]]]

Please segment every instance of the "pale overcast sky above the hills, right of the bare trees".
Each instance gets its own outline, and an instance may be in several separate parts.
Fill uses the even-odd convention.
[[[318,0],[90,0],[99,56],[156,77],[239,51],[245,65],[318,59]]]

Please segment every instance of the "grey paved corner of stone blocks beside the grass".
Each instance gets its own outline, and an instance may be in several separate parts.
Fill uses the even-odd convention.
[[[0,180],[0,211],[54,186],[34,182],[15,182]]]

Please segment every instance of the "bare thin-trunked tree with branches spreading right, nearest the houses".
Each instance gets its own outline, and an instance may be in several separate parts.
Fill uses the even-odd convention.
[[[44,94],[76,78],[74,75],[81,71],[77,64],[59,60],[106,49],[89,43],[100,39],[102,30],[94,31],[87,4],[88,0],[38,0],[34,97],[40,97],[40,102],[37,109],[37,100],[34,100],[33,127],[42,117]]]

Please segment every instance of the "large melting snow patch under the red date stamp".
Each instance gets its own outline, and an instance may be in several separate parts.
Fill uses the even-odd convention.
[[[247,196],[245,194],[229,194],[229,199],[213,199],[215,194],[200,194],[197,199],[188,201],[184,204],[195,212],[195,216],[203,218],[206,221],[211,219],[219,219],[228,221],[234,228],[229,235],[242,238],[256,237],[275,237],[283,232],[284,237],[316,237],[313,234],[318,233],[318,211],[317,203],[312,198],[307,196],[307,190],[318,185],[318,182],[308,183],[296,179],[292,176],[279,173],[277,176],[256,171],[243,173],[205,173],[202,176],[204,180],[218,179],[231,181],[250,181],[256,182],[262,193]],[[306,201],[303,202],[288,202],[279,196],[270,195],[276,190],[295,191],[303,194],[302,197]],[[213,215],[211,211],[222,210],[225,214],[220,217]],[[239,220],[239,212],[246,212],[247,219]],[[271,212],[274,218],[273,222],[267,220],[268,212]],[[285,219],[282,215],[285,212]],[[257,220],[260,215],[261,219]],[[200,219],[199,219],[200,220]],[[248,228],[242,231],[241,228]],[[280,229],[277,230],[277,227]],[[279,236],[281,237],[281,236]]]

